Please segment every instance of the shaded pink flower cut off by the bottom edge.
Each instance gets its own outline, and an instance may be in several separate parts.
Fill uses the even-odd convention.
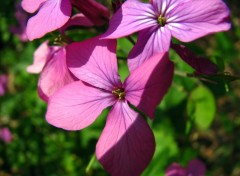
[[[186,168],[173,163],[167,168],[166,176],[204,176],[206,167],[200,160],[191,160]]]

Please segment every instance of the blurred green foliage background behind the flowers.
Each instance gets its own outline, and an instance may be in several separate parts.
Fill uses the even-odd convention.
[[[170,52],[176,67],[174,81],[155,119],[149,121],[157,146],[144,176],[164,175],[171,163],[186,166],[194,158],[205,163],[206,175],[240,175],[240,81],[233,81],[240,76],[240,2],[226,3],[231,9],[232,29],[185,44],[216,63],[220,75],[194,77],[194,70]],[[10,26],[17,25],[16,1],[1,4],[0,75],[8,76],[8,85],[7,93],[0,97],[0,127],[8,127],[13,139],[8,144],[0,141],[0,176],[108,175],[94,155],[108,110],[82,131],[49,125],[45,121],[47,106],[37,95],[38,75],[27,73],[26,67],[32,64],[41,42],[51,40],[57,32],[45,39],[21,42],[9,32]],[[75,28],[69,36],[81,41],[104,30]],[[131,47],[127,39],[120,39],[119,58],[126,58]],[[126,59],[119,59],[119,72],[122,79],[128,75]]]

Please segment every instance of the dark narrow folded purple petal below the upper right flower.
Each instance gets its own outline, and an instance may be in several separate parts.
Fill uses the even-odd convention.
[[[183,45],[172,44],[172,48],[186,63],[196,69],[198,73],[207,75],[217,73],[217,66],[215,64],[208,59],[196,56],[187,47]]]

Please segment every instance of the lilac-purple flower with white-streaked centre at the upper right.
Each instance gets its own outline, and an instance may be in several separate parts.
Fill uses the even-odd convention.
[[[155,53],[168,51],[171,37],[190,42],[230,28],[229,10],[222,0],[128,0],[113,15],[103,38],[114,39],[139,31],[129,54],[134,70]]]

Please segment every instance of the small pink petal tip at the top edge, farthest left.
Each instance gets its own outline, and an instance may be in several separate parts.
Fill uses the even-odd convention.
[[[22,8],[28,13],[34,13],[46,0],[22,0]]]

